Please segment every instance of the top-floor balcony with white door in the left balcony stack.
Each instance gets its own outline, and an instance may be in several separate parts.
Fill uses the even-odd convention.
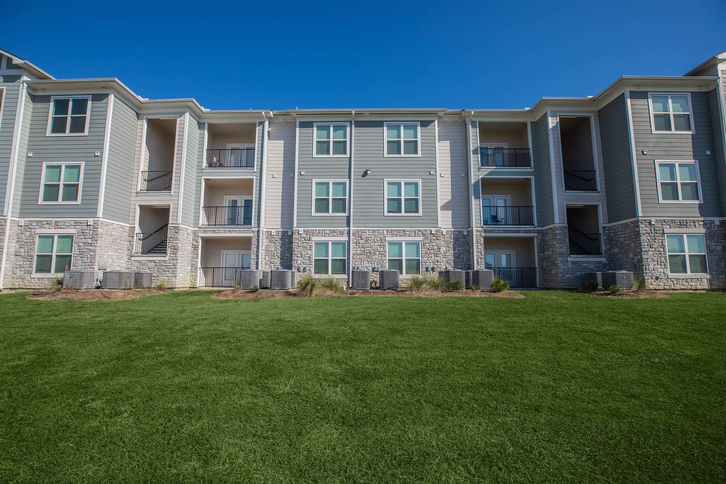
[[[210,123],[204,168],[253,170],[256,123]]]

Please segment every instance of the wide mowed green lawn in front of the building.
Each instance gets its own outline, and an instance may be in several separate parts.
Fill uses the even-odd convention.
[[[717,483],[726,294],[0,295],[0,482]]]

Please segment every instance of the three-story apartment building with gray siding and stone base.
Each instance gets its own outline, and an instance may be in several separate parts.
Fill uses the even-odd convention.
[[[0,287],[67,268],[726,288],[726,53],[511,110],[207,110],[0,50]],[[374,272],[375,274],[375,272]]]

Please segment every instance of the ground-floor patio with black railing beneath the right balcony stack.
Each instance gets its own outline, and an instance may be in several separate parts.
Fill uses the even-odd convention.
[[[510,287],[537,287],[535,237],[484,237],[484,268]]]

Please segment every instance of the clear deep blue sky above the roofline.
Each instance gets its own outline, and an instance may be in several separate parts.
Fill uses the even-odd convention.
[[[209,109],[522,108],[726,51],[726,1],[594,4],[34,1],[4,8],[0,48]]]

